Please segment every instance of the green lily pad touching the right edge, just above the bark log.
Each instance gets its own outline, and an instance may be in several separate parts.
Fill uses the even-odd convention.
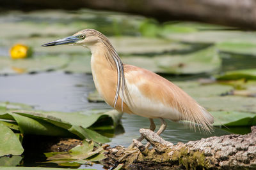
[[[252,126],[256,125],[256,114],[238,111],[212,111],[214,126]]]

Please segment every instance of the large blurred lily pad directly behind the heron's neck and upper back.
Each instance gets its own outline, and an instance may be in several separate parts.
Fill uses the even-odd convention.
[[[156,73],[200,74],[218,71],[221,59],[216,48],[206,48],[184,55],[157,55],[156,57],[122,57],[125,64],[142,67]]]

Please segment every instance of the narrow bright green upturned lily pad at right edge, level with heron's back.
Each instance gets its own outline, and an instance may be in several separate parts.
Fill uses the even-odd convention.
[[[228,71],[221,76],[216,76],[217,80],[256,80],[256,69],[243,69]]]

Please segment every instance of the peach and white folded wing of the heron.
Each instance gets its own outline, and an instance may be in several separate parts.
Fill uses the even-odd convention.
[[[214,122],[212,115],[186,92],[151,71],[125,65],[125,80],[130,96],[125,96],[125,104],[136,115],[189,120],[205,125],[205,128]]]

